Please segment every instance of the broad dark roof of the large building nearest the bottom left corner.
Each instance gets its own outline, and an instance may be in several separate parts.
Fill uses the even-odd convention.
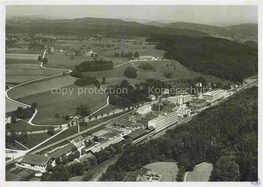
[[[24,156],[21,162],[45,166],[50,159],[50,156],[28,154]]]

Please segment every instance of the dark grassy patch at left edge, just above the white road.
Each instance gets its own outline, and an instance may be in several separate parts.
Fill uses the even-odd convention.
[[[7,128],[7,125],[5,125],[5,131],[6,132],[10,132],[11,129],[13,129],[14,132],[30,132],[30,131],[37,131],[37,130],[45,130],[45,129],[49,128],[49,126],[30,125],[23,120],[17,121],[16,123],[13,123],[13,124],[9,124],[9,126],[10,127]]]

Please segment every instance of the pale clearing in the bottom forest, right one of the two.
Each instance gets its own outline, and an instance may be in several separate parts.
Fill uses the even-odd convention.
[[[188,172],[187,182],[208,182],[211,172],[213,170],[213,164],[204,162],[193,168],[193,171]]]

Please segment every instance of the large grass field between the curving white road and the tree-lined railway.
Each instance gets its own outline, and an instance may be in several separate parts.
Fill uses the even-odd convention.
[[[68,94],[52,94],[51,91],[47,91],[19,98],[18,100],[29,105],[32,102],[38,103],[38,113],[32,122],[37,125],[66,124],[67,121],[62,117],[65,115],[74,115],[76,108],[81,104],[87,105],[91,112],[107,104],[107,94],[98,93],[98,89],[95,86],[90,85],[81,88],[76,85],[70,85],[64,88],[68,89]],[[69,89],[73,90],[72,94],[70,94]],[[78,89],[83,89],[83,94],[78,94]],[[86,92],[84,94],[84,89],[90,89],[94,93],[90,92],[91,94],[89,94]],[[59,114],[59,118],[55,118],[56,113]]]

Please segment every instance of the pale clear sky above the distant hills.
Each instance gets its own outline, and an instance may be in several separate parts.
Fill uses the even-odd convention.
[[[6,15],[67,19],[133,18],[215,26],[258,23],[258,7],[255,5],[7,5]]]

